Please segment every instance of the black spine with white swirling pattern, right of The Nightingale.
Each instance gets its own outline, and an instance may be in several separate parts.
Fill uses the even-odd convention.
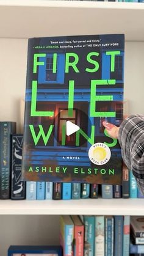
[[[21,159],[23,148],[23,135],[12,135],[12,185],[11,185],[11,199],[23,200],[26,197],[25,181],[21,181]]]

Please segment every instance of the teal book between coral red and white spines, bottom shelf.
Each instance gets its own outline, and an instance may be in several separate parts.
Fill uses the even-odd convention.
[[[84,255],[95,255],[95,216],[84,216]]]

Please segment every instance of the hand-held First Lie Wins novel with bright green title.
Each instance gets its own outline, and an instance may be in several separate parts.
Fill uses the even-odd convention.
[[[121,184],[123,67],[123,34],[29,39],[24,180]]]

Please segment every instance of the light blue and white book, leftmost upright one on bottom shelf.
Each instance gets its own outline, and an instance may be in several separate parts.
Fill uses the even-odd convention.
[[[63,256],[73,255],[74,224],[70,216],[60,216],[60,245],[63,247]]]

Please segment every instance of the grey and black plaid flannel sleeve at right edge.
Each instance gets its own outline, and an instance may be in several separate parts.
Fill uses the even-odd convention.
[[[144,115],[130,115],[120,125],[118,141],[124,163],[144,195]]]

